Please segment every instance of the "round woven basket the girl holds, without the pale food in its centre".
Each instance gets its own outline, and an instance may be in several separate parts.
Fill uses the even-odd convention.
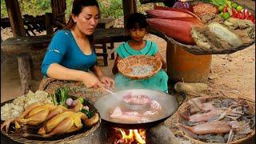
[[[134,75],[133,72],[133,66],[154,66],[154,70],[150,71],[148,74],[145,75]],[[147,56],[147,55],[134,55],[129,56],[127,58],[122,58],[118,62],[118,70],[121,74],[125,75],[128,78],[132,79],[142,79],[142,78],[150,78],[154,76],[158,72],[158,70],[161,70],[162,68],[162,62],[158,60],[157,58],[154,58],[153,56]]]

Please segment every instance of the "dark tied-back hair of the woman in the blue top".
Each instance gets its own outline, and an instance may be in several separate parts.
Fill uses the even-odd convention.
[[[97,6],[99,11],[99,6],[97,0],[74,0],[71,14],[78,16],[82,9],[86,6]],[[63,27],[64,30],[70,29],[74,26],[75,22],[73,21],[72,16],[70,15],[69,21],[66,23],[66,26]]]

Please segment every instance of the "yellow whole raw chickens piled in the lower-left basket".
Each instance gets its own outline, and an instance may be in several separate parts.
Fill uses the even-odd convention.
[[[53,104],[35,102],[27,106],[18,118],[10,118],[3,122],[1,130],[5,127],[6,131],[8,131],[11,122],[14,122],[16,129],[21,127],[20,124],[39,126],[43,123],[38,130],[38,134],[47,138],[54,134],[65,134],[80,130],[82,121],[88,127],[94,126],[99,120],[98,114],[88,118],[86,114],[80,112],[82,107],[81,102],[78,102],[73,109],[67,109],[62,105],[54,106]]]

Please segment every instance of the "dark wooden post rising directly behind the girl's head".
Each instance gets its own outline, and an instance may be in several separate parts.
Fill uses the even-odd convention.
[[[124,20],[124,27],[126,28],[127,18],[130,14],[134,14],[138,12],[137,10],[137,1],[135,0],[122,0],[122,10],[123,10],[123,20]]]

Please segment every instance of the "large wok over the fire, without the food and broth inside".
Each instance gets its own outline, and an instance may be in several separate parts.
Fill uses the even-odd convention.
[[[119,106],[122,102],[122,97],[126,96],[132,92],[132,95],[143,94],[146,95],[155,101],[159,102],[162,106],[164,114],[162,117],[157,118],[153,122],[118,122],[113,118],[110,118],[109,110],[113,109],[115,106]],[[115,95],[114,95],[115,94]],[[106,125],[120,127],[125,129],[139,129],[139,128],[148,128],[158,125],[161,122],[164,122],[167,118],[169,118],[176,110],[178,110],[178,106],[180,106],[185,99],[184,95],[182,102],[178,102],[178,97],[170,94],[163,93],[158,90],[144,90],[144,89],[133,89],[133,90],[121,90],[114,92],[114,94],[107,94],[99,98],[97,102],[94,103],[94,106],[98,110],[101,115],[102,122],[105,122]]]

